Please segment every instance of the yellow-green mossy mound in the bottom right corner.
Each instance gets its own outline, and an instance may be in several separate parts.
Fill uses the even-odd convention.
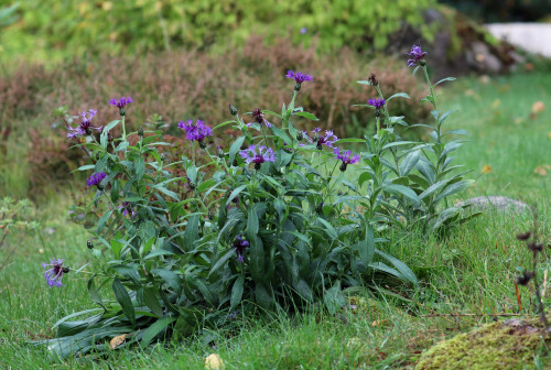
[[[446,369],[536,369],[534,353],[549,347],[551,334],[538,318],[509,319],[486,324],[460,334],[429,349],[415,370]],[[551,366],[548,357],[547,364]]]

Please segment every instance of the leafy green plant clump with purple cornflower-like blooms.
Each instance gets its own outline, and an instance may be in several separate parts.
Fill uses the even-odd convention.
[[[419,46],[411,66],[424,72],[434,110],[432,141],[403,141],[406,124],[390,115],[400,92],[386,97],[377,76],[359,81],[378,98],[367,105],[377,131],[364,139],[338,139],[329,130],[299,130],[299,118],[317,118],[298,107],[303,85],[313,76],[289,70],[290,101],[281,113],[255,108],[212,128],[201,119],[181,121],[191,155],[166,161],[161,131],[127,132],[126,118],[139,104],[130,97],[109,100],[120,119],[95,121],[96,110],[67,126],[67,138],[93,164],[87,186],[95,191],[89,210],[98,214],[88,241],[94,272],[88,293],[99,306],[55,324],[48,349],[68,356],[109,348],[106,339],[148,346],[155,339],[184,337],[203,329],[231,329],[238,319],[276,309],[325,309],[335,314],[344,292],[369,285],[381,275],[418,284],[412,271],[382,249],[389,231],[445,231],[464,221],[450,196],[469,182],[455,174],[450,154],[460,141],[444,141],[442,123],[451,111],[436,109],[425,57]],[[451,78],[449,78],[451,79]],[[210,138],[231,126],[240,134],[227,148]],[[120,127],[121,135],[114,129]],[[358,154],[344,144],[363,143]],[[174,176],[171,168],[184,173]],[[207,171],[208,170],[208,171]],[[208,174],[208,175],[207,175]],[[176,188],[190,189],[182,198]],[[442,206],[444,204],[444,206]],[[63,260],[44,264],[51,286],[72,273]],[[105,291],[111,289],[112,295]],[[69,319],[94,314],[86,319]],[[115,340],[121,346],[121,341]]]

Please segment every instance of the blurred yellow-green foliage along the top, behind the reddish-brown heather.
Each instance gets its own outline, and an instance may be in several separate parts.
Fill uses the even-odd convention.
[[[342,46],[380,50],[403,21],[432,40],[422,11],[435,0],[364,1],[204,1],[204,0],[29,0],[20,7],[21,21],[4,42],[21,37],[45,50],[82,54],[98,51],[143,52],[179,45],[241,44],[249,35],[292,35],[295,43],[318,39],[321,51]],[[306,28],[306,33],[300,30]],[[33,40],[35,37],[35,40]],[[21,47],[12,45],[13,47]]]

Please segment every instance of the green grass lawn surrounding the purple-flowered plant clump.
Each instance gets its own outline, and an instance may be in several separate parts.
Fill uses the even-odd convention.
[[[456,164],[474,170],[467,177],[477,179],[464,197],[505,195],[536,205],[545,239],[551,216],[550,78],[538,73],[463,78],[441,90],[443,109],[458,110],[444,128],[469,133],[471,141],[455,156]],[[534,106],[538,101],[543,111]],[[257,322],[238,315],[237,336],[203,333],[183,342],[116,350],[101,360],[60,360],[25,341],[51,337],[60,318],[94,307],[87,275],[69,274],[64,289],[48,289],[42,275],[41,263],[48,259],[64,258],[75,268],[88,260],[87,233],[67,221],[69,205],[67,192],[58,192],[37,209],[40,236],[10,236],[0,250],[2,261],[8,249],[18,246],[0,272],[0,369],[204,369],[204,358],[213,352],[220,355],[226,369],[414,368],[423,350],[491,322],[487,314],[518,313],[514,280],[517,268],[530,263],[515,236],[531,226],[531,215],[490,211],[445,240],[397,237],[387,244],[387,252],[417,272],[418,289],[374,286],[377,301],[356,297],[354,309],[336,316],[287,318],[281,313]],[[549,252],[545,257],[541,273],[551,270]],[[527,289],[521,287],[521,297],[522,313],[531,313]],[[549,292],[545,303],[551,303]],[[213,339],[216,348],[209,345]]]

